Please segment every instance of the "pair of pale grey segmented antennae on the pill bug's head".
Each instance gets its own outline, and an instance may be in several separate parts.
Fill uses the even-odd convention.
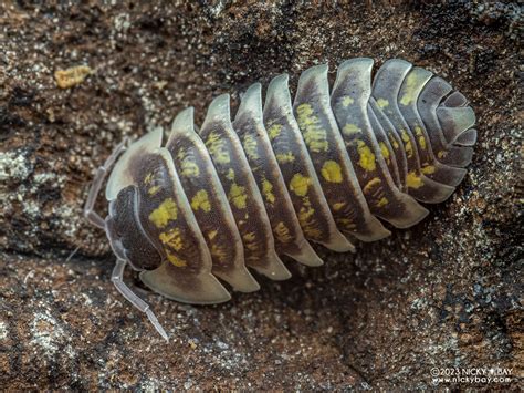
[[[115,285],[115,288],[118,290],[118,292],[122,293],[122,296],[126,300],[128,300],[138,310],[144,312],[149,319],[149,321],[153,323],[157,332],[166,341],[169,341],[169,338],[166,331],[161,327],[160,322],[158,322],[158,319],[156,318],[153,310],[149,308],[149,304],[147,304],[144,300],[142,300],[124,282],[124,269],[127,265],[127,257],[125,256],[125,251],[122,248],[122,245],[119,244],[119,241],[115,239],[114,232],[112,231],[112,228],[109,226],[109,223],[111,223],[109,217],[107,217],[106,219],[103,219],[94,210],[96,198],[102,188],[102,185],[104,184],[107,173],[109,172],[111,167],[115,163],[116,158],[118,158],[118,156],[126,149],[126,143],[127,143],[127,139],[124,139],[123,142],[120,142],[118,146],[116,146],[113,154],[105,161],[104,165],[98,167],[98,169],[96,170],[95,177],[93,179],[93,184],[90,189],[90,194],[87,196],[87,200],[84,206],[84,216],[91,224],[105,230],[107,238],[109,239],[111,248],[117,257],[115,267],[113,268],[113,272],[111,275],[111,280]]]

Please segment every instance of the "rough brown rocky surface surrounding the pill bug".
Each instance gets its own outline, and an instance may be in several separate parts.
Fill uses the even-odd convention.
[[[523,387],[516,2],[113,3],[0,4],[0,389],[421,389],[433,368],[483,366],[511,382],[441,386]],[[333,76],[358,55],[401,56],[472,101],[463,184],[412,229],[321,251],[322,268],[290,261],[291,280],[226,304],[179,304],[128,272],[165,343],[113,288],[104,234],[82,217],[94,169],[186,106],[200,123],[220,93],[237,103],[254,81],[293,85],[322,62]],[[85,80],[60,89],[55,71],[77,65]]]

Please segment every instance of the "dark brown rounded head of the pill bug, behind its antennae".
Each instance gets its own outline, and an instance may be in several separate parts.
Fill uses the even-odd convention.
[[[149,241],[138,219],[139,196],[135,186],[122,189],[109,205],[108,235],[118,241],[135,270],[153,270],[161,258]]]

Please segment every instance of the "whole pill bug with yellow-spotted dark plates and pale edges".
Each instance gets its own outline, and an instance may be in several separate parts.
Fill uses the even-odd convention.
[[[98,168],[85,216],[107,234],[116,288],[164,338],[122,280],[127,263],[167,298],[219,303],[230,293],[218,278],[241,292],[260,288],[247,267],[287,279],[279,256],[319,266],[310,241],[354,250],[353,239],[390,234],[381,221],[419,223],[428,214],[419,203],[441,203],[459,185],[476,141],[468,100],[404,60],[374,75],[373,66],[367,58],[343,62],[331,92],[327,65],[313,66],[293,103],[286,74],[271,81],[264,105],[255,83],[234,120],[220,95],[199,130],[187,108],[166,144],[155,130],[120,143]],[[103,219],[93,207],[113,164]]]

